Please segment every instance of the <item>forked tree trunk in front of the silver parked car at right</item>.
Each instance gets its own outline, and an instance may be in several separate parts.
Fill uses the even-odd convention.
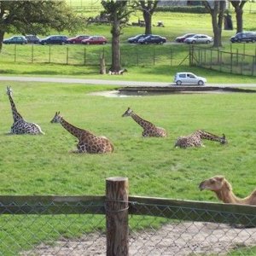
[[[212,16],[212,30],[214,34],[213,47],[221,47],[221,34],[226,3],[223,0],[213,0],[213,2],[208,2],[207,0],[205,0],[203,3],[208,9],[210,15]]]

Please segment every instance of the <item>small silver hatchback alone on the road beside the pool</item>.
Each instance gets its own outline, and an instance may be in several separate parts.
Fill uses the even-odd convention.
[[[204,85],[207,83],[207,79],[198,77],[197,75],[195,75],[195,73],[182,72],[182,73],[175,74],[174,83],[177,85],[182,85],[182,84]]]

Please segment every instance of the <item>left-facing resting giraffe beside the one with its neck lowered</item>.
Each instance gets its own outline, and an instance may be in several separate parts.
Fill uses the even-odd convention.
[[[148,122],[145,119],[139,117],[136,113],[134,113],[131,108],[128,108],[125,113],[123,113],[122,117],[131,116],[138,125],[143,127],[143,137],[166,137],[167,132],[164,128],[156,127],[152,123]]]

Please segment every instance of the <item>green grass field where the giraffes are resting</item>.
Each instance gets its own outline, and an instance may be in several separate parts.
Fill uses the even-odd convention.
[[[4,93],[7,84],[12,85],[18,111],[26,120],[41,125],[44,136],[6,134],[12,125],[9,100]],[[183,200],[218,201],[211,192],[198,189],[202,179],[217,174],[228,178],[238,196],[246,196],[254,189],[256,106],[253,94],[115,98],[89,94],[113,88],[111,85],[1,82],[1,195],[104,195],[105,178],[113,176],[129,177],[130,195]],[[127,107],[166,128],[168,137],[143,138],[140,126],[131,118],[121,117]],[[69,153],[75,148],[75,137],[61,125],[49,123],[59,110],[73,125],[108,137],[114,145],[113,154]],[[173,148],[177,137],[196,129],[218,135],[224,133],[229,143],[222,146],[205,142],[205,148]],[[0,251],[15,255],[7,253],[9,247],[17,252],[20,247],[27,249],[41,240],[55,240],[59,233],[66,237],[80,236],[90,230],[91,222],[96,225],[102,219],[94,217],[87,224],[88,218],[91,217],[70,217],[74,227],[68,225],[68,229],[63,229],[61,216],[49,220],[41,217],[37,221],[32,217],[4,217],[4,233],[0,236],[4,242]],[[146,218],[141,226],[151,221]],[[99,221],[97,229],[103,226]],[[27,229],[38,236],[31,236]],[[5,236],[5,232],[9,235]]]

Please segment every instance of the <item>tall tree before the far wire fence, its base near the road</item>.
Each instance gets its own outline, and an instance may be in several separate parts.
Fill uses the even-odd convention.
[[[127,8],[128,1],[125,0],[102,0],[104,13],[108,15],[108,20],[111,23],[112,34],[112,65],[110,71],[119,72],[121,70],[121,57],[119,36],[122,28],[129,19],[132,10]]]

